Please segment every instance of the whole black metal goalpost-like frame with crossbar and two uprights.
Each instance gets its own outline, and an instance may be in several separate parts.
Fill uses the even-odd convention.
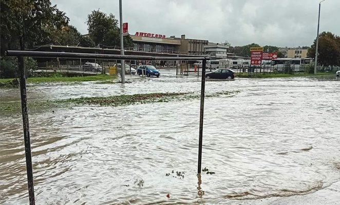
[[[29,204],[34,205],[34,185],[33,185],[33,171],[32,171],[32,156],[31,156],[31,142],[29,134],[29,120],[27,108],[27,92],[26,92],[26,78],[25,78],[25,61],[24,56],[27,57],[51,57],[51,58],[88,58],[88,59],[116,59],[116,60],[202,60],[202,80],[201,80],[201,97],[200,97],[200,116],[199,116],[199,144],[198,144],[198,170],[201,173],[202,162],[202,141],[203,141],[203,112],[204,112],[204,92],[205,92],[205,65],[208,56],[197,57],[162,57],[162,56],[142,56],[142,55],[114,55],[114,54],[96,54],[96,53],[65,53],[65,52],[42,52],[42,51],[6,51],[6,56],[18,58],[18,66],[20,70],[20,93],[21,93],[21,107],[23,116],[23,131],[25,142],[25,157],[26,157],[26,171]]]

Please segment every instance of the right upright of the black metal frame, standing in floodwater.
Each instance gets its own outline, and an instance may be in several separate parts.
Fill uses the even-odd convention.
[[[202,61],[202,81],[201,81],[201,106],[199,114],[199,142],[198,142],[198,170],[201,173],[202,164],[202,140],[203,140],[203,112],[204,112],[204,92],[205,92],[205,65],[206,59]]]

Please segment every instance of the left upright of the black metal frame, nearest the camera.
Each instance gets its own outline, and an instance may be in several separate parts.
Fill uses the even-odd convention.
[[[34,186],[33,186],[31,142],[30,142],[30,136],[29,136],[29,123],[28,123],[28,113],[27,113],[27,93],[26,93],[24,57],[22,56],[18,57],[18,65],[20,69],[20,94],[21,94],[21,110],[22,110],[22,115],[23,115],[28,197],[29,197],[29,204],[34,205],[35,200],[34,200]]]

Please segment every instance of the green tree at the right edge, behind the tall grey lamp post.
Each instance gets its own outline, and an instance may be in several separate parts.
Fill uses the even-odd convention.
[[[315,58],[316,39],[308,49],[307,57]],[[340,37],[331,32],[319,34],[318,64],[324,66],[340,65]]]

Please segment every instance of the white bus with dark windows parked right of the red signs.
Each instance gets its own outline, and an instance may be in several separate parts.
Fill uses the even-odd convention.
[[[312,63],[311,58],[276,58],[272,60],[274,71],[283,71],[290,68],[294,72],[305,71],[305,66]]]

